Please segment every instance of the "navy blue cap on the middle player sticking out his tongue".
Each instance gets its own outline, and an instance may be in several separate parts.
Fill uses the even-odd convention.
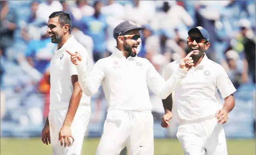
[[[121,22],[117,27],[115,27],[113,36],[117,39],[118,36],[123,36],[126,32],[130,30],[142,30],[145,27],[137,26],[134,22],[125,21]]]

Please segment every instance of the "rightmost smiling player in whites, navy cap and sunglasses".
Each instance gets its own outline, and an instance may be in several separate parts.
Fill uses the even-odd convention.
[[[193,52],[194,66],[175,89],[174,103],[180,121],[176,136],[184,155],[227,155],[223,123],[227,122],[228,113],[235,106],[233,93],[236,89],[222,66],[207,58],[205,51],[210,42],[205,28],[190,29],[187,45]],[[165,78],[170,78],[178,67],[178,61],[168,64]],[[218,89],[225,100],[224,105]],[[163,100],[163,105],[166,114],[161,125],[169,127],[172,95]]]

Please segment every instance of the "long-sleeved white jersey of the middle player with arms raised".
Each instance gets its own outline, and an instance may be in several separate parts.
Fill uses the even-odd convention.
[[[126,59],[123,52],[117,48],[111,56],[96,62],[90,76],[84,63],[79,64],[77,69],[78,81],[86,95],[94,95],[99,86],[103,85],[108,111],[150,110],[152,105],[148,87],[158,97],[165,99],[187,73],[179,68],[168,81],[165,81],[149,60],[137,56]]]

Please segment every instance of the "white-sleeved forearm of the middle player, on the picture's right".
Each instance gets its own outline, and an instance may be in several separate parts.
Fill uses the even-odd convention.
[[[180,82],[186,76],[186,71],[178,68],[174,74],[162,84],[160,96],[162,99],[166,99],[176,88],[178,82]]]

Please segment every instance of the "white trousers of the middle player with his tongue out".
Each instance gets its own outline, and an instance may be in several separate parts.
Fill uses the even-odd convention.
[[[126,146],[129,155],[154,155],[153,115],[147,111],[114,113],[120,121],[104,123],[96,155],[119,155]]]

